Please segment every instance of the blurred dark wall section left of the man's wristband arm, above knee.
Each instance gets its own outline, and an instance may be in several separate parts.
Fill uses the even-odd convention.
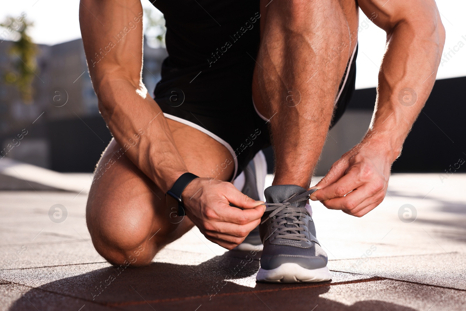
[[[103,118],[81,117],[47,124],[51,169],[92,172],[112,136]]]

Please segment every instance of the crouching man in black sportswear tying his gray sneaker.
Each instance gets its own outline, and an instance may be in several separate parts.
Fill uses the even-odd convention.
[[[329,280],[306,202],[310,195],[360,217],[383,200],[391,164],[435,82],[445,40],[435,4],[153,4],[165,16],[169,53],[155,101],[141,79],[140,1],[80,5],[89,73],[114,136],[87,206],[97,251],[110,263],[147,265],[194,225],[226,249],[259,225],[258,280]],[[308,189],[329,126],[354,89],[358,5],[387,33],[376,108],[361,143],[330,168],[318,190]],[[229,181],[247,172],[270,141],[276,171],[266,207]]]

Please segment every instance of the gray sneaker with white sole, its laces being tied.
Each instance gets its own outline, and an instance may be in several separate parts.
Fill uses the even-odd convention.
[[[264,244],[256,279],[263,282],[321,282],[332,278],[327,254],[315,237],[305,208],[315,190],[296,185],[265,189],[267,209],[259,225]]]

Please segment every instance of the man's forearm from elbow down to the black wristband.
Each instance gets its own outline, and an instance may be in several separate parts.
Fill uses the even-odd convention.
[[[187,169],[163,112],[144,91],[127,80],[105,81],[98,92],[99,110],[122,152],[166,192]]]

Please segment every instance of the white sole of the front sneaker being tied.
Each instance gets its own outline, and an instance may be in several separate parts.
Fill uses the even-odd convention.
[[[329,268],[309,270],[297,263],[282,263],[280,267],[265,270],[260,268],[256,280],[274,283],[323,282],[332,279]]]

